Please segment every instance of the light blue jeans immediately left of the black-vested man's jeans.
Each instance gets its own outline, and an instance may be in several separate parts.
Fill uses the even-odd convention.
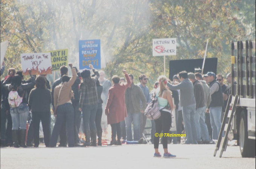
[[[197,128],[197,141],[201,141],[201,137],[203,137],[203,141],[210,141],[208,128],[205,123],[205,106],[197,109],[195,113],[195,121]]]

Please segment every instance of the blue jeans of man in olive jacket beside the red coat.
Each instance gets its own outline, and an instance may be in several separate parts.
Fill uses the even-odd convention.
[[[131,124],[133,122],[133,134],[131,130]],[[139,141],[140,140],[140,112],[139,113],[127,113],[125,118],[126,134],[128,141]]]

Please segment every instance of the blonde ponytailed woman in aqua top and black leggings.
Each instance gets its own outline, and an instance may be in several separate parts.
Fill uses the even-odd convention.
[[[176,155],[172,155],[168,152],[168,137],[165,135],[165,133],[169,133],[169,130],[171,128],[172,124],[172,116],[171,112],[175,109],[175,106],[173,104],[172,100],[172,92],[168,90],[166,84],[167,84],[167,77],[165,75],[158,77],[159,81],[159,87],[155,90],[155,96],[157,97],[157,102],[159,106],[159,110],[161,113],[160,118],[155,120],[155,137],[154,137],[154,149],[155,154],[154,157],[162,157],[161,154],[158,151],[159,146],[159,136],[160,133],[163,133],[162,141],[163,141],[163,149],[164,149],[164,155],[165,158],[171,158],[176,157]],[[172,110],[166,109],[166,107],[171,107]]]

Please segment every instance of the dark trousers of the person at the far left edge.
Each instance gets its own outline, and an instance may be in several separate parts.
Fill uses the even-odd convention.
[[[7,128],[6,128],[6,120],[8,121]],[[11,117],[10,110],[8,111],[8,115],[6,115],[5,108],[1,108],[0,130],[1,130],[1,140],[5,140],[6,143],[12,144],[12,117]]]

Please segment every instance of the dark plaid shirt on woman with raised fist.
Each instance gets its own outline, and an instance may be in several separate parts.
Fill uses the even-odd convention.
[[[80,89],[81,89],[81,96],[80,96],[80,102],[79,107],[83,108],[83,106],[94,106],[99,103],[98,101],[98,92],[96,87],[96,79],[92,78],[95,82],[95,86],[88,87],[84,83],[81,83]]]

